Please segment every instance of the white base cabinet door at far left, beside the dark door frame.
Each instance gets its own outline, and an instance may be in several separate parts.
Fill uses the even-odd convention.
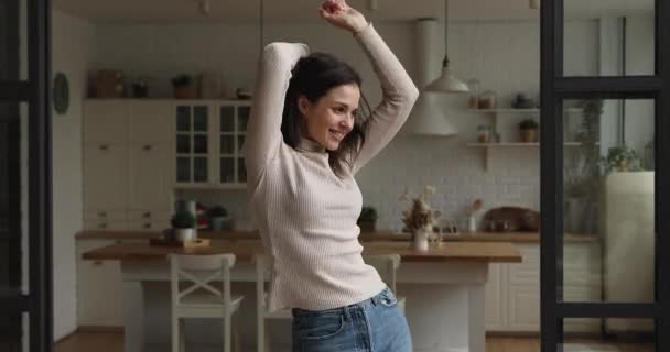
[[[79,326],[123,326],[121,270],[118,261],[83,260],[89,250],[114,240],[77,240],[77,316]]]

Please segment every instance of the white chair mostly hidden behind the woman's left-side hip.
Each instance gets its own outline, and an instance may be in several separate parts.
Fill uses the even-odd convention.
[[[273,312],[268,310],[266,299],[268,293],[266,290],[266,279],[270,267],[264,255],[256,254],[253,257],[256,263],[256,336],[258,352],[270,351],[270,341],[266,334],[266,319],[293,319],[291,309],[280,309]]]

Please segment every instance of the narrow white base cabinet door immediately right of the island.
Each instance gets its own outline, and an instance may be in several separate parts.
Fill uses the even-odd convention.
[[[486,330],[500,331],[505,327],[505,310],[507,309],[507,297],[505,285],[507,284],[506,264],[489,264],[488,280],[486,282],[485,317]]]

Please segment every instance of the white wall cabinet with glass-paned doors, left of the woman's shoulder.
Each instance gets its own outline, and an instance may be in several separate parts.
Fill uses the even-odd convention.
[[[177,187],[244,188],[242,145],[249,101],[185,101],[175,105]]]

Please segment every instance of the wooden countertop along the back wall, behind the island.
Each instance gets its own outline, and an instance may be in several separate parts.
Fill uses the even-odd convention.
[[[159,231],[110,231],[110,230],[85,230],[78,232],[76,239],[107,239],[107,240],[147,240],[160,235]],[[207,239],[225,240],[249,240],[259,239],[257,231],[203,231],[198,230],[198,237]],[[514,242],[514,243],[539,243],[540,234],[537,232],[475,232],[464,234],[445,234],[447,242]],[[406,233],[391,233],[388,231],[361,232],[361,241],[409,241],[410,235]],[[570,243],[597,242],[598,237],[594,234],[570,234],[564,235],[564,241]]]

